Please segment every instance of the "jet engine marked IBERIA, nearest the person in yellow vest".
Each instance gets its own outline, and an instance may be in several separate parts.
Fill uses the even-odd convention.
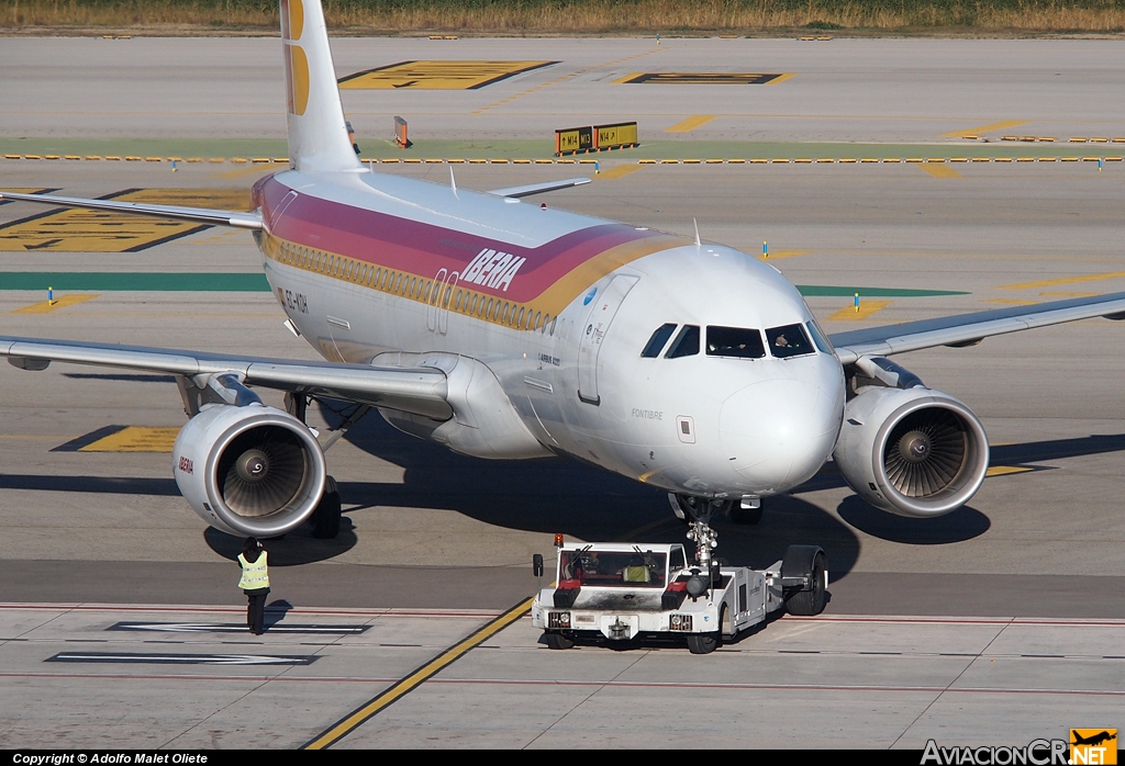
[[[327,472],[308,428],[262,404],[209,404],[176,437],[172,473],[202,519],[242,537],[276,537],[316,510]]]

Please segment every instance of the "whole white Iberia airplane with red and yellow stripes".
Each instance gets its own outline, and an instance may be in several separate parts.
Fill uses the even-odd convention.
[[[17,367],[51,362],[176,376],[189,420],[172,471],[209,525],[272,537],[340,527],[324,450],[370,408],[492,459],[568,455],[668,492],[693,539],[831,457],[885,511],[933,517],[976,492],[989,448],[962,402],[886,357],[1091,317],[1125,293],[828,338],[796,289],[745,253],[520,198],[374,173],[356,157],[317,0],[281,0],[289,170],[252,212],[9,194],[4,199],[249,229],[290,327],[321,363],[0,337]],[[834,347],[835,346],[835,347]],[[287,393],[287,411],[254,387]],[[309,398],[353,402],[318,439]]]

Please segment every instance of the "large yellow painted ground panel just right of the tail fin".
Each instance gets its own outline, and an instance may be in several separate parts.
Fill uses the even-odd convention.
[[[342,90],[477,90],[556,61],[404,61],[340,80]]]

